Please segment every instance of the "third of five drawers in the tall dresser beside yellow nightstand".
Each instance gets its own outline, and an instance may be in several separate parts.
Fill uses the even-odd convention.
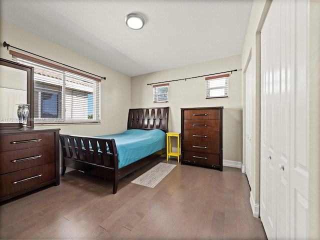
[[[183,139],[191,141],[213,141],[219,142],[219,131],[206,131],[206,130],[184,130]]]

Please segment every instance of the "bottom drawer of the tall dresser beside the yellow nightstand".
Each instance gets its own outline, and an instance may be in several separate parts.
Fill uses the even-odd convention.
[[[220,155],[204,152],[184,151],[182,160],[189,163],[212,166],[220,164]]]

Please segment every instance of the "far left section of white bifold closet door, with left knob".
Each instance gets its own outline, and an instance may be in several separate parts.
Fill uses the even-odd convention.
[[[274,92],[274,31],[276,24],[276,8],[272,2],[268,15],[261,30],[261,143],[260,143],[260,218],[268,239],[276,238],[276,122],[278,117]],[[275,82],[276,84],[276,82]]]

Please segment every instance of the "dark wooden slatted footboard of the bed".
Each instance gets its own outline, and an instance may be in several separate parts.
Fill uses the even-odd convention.
[[[116,193],[119,171],[114,139],[60,134],[63,153],[62,175],[66,166],[113,180]]]

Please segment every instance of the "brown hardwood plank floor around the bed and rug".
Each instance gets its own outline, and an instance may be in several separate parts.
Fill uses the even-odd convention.
[[[78,171],[60,185],[0,204],[1,239],[266,239],[238,168],[177,164],[154,188],[131,183],[156,163],[112,183]]]

